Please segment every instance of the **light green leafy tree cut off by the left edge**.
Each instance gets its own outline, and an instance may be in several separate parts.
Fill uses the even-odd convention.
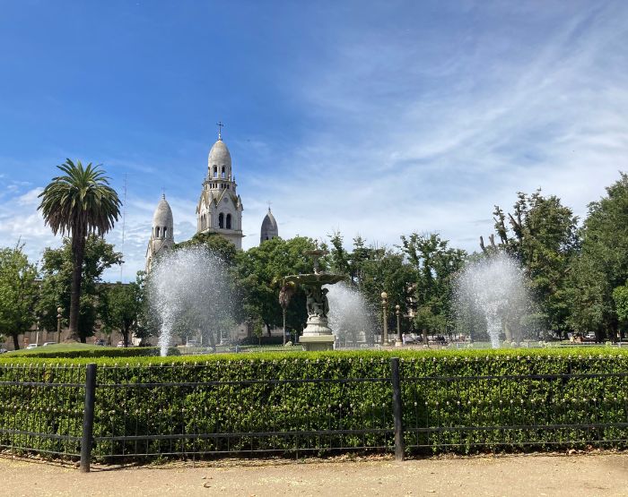
[[[22,246],[0,249],[0,334],[13,337],[15,350],[20,348],[18,336],[37,320],[38,271]]]

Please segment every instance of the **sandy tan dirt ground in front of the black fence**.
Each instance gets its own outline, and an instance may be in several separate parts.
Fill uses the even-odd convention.
[[[628,495],[628,453],[73,467],[0,458],[0,495]]]

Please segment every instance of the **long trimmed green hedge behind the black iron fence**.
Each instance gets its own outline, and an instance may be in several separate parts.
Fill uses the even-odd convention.
[[[353,351],[195,357],[0,359],[0,381],[80,383],[98,364],[93,454],[259,454],[390,448],[388,381],[269,383],[233,381],[388,378],[401,358],[406,446],[411,453],[585,448],[624,449],[628,429],[628,351]],[[9,367],[8,364],[12,364]],[[578,379],[547,374],[602,374]],[[619,374],[617,374],[619,373]],[[528,375],[536,375],[531,378]],[[477,378],[480,377],[480,378]],[[198,381],[215,385],[194,386]],[[190,383],[167,388],[158,382]],[[114,387],[112,385],[118,385]],[[148,387],[137,385],[149,384]],[[122,386],[119,386],[122,385]],[[0,424],[34,433],[80,436],[83,390],[0,387]],[[607,426],[607,424],[615,424]],[[548,426],[554,425],[554,428]],[[353,430],[371,433],[351,433]],[[318,430],[343,431],[320,435]],[[436,431],[435,431],[436,430]],[[297,435],[297,432],[305,434]],[[181,433],[275,433],[202,440]],[[278,434],[277,434],[278,433]],[[288,434],[285,434],[288,433]],[[177,435],[146,440],[146,435]],[[133,441],[112,437],[134,435]],[[0,433],[0,445],[75,454],[78,441]]]

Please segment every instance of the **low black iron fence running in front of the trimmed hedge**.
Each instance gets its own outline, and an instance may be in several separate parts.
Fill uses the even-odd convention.
[[[624,371],[424,375],[416,366],[393,358],[371,377],[262,368],[204,381],[201,364],[3,365],[0,448],[80,458],[89,471],[94,459],[628,445]]]

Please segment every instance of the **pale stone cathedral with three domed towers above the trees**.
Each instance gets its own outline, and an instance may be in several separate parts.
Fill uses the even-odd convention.
[[[242,248],[242,199],[237,193],[231,168],[231,153],[222,141],[219,124],[218,140],[209,150],[203,190],[196,204],[196,233],[215,233],[223,236],[239,250]],[[268,209],[262,221],[259,243],[279,236],[275,216]],[[146,271],[150,271],[155,257],[174,245],[174,218],[165,194],[153,214],[153,229],[146,249]]]

